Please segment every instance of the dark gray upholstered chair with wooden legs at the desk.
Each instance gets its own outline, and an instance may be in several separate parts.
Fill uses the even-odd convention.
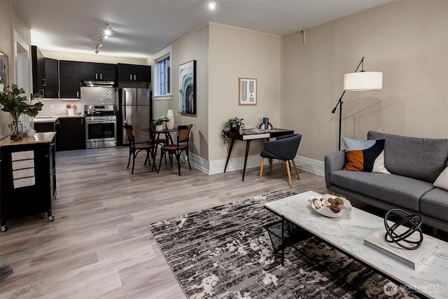
[[[260,153],[261,156],[261,166],[260,166],[260,183],[263,175],[263,166],[265,164],[265,158],[269,158],[269,174],[272,172],[272,160],[283,160],[286,163],[286,172],[288,172],[289,186],[293,188],[293,181],[291,181],[291,172],[289,161],[293,162],[295,174],[297,174],[297,179],[300,179],[297,166],[295,165],[295,155],[297,154],[297,149],[300,145],[300,140],[302,139],[302,134],[291,134],[282,137],[277,137],[276,140],[268,141],[265,143],[265,148]]]

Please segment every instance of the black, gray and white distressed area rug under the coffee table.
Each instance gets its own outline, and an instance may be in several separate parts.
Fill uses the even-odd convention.
[[[285,265],[262,228],[265,202],[284,189],[148,225],[188,298],[416,298],[314,237],[286,249]]]

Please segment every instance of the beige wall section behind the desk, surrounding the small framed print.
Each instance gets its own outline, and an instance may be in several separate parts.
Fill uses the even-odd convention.
[[[258,127],[263,117],[281,125],[281,38],[211,23],[209,47],[209,161],[223,162],[228,144],[222,143],[221,129],[229,118],[243,118],[247,128]],[[257,79],[255,106],[239,106],[240,77]],[[235,142],[232,158],[244,157],[245,146]],[[252,142],[250,155],[259,160],[261,149],[262,142]]]

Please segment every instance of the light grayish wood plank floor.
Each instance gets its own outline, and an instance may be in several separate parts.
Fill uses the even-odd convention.
[[[0,298],[185,298],[146,225],[180,214],[288,188],[284,165],[207,175],[162,163],[160,173],[127,148],[57,152],[55,221],[46,214],[8,221],[0,260],[14,274],[0,282]],[[323,177],[300,172],[295,192],[328,192]]]

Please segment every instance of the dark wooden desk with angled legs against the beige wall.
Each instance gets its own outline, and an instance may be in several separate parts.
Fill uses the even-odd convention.
[[[227,169],[227,165],[229,163],[230,154],[232,153],[233,144],[235,144],[235,140],[242,140],[246,141],[246,154],[244,155],[244,168],[243,168],[243,179],[241,181],[244,181],[244,175],[246,174],[246,165],[247,165],[247,156],[249,154],[249,147],[251,146],[251,141],[254,139],[267,139],[272,137],[279,137],[283,135],[288,134],[294,134],[294,130],[286,130],[286,129],[279,129],[278,127],[273,127],[272,130],[269,130],[270,132],[251,132],[252,129],[246,129],[243,132],[227,132],[227,136],[232,139],[230,141],[230,148],[227,155],[227,160],[225,161],[225,167],[224,172]]]

